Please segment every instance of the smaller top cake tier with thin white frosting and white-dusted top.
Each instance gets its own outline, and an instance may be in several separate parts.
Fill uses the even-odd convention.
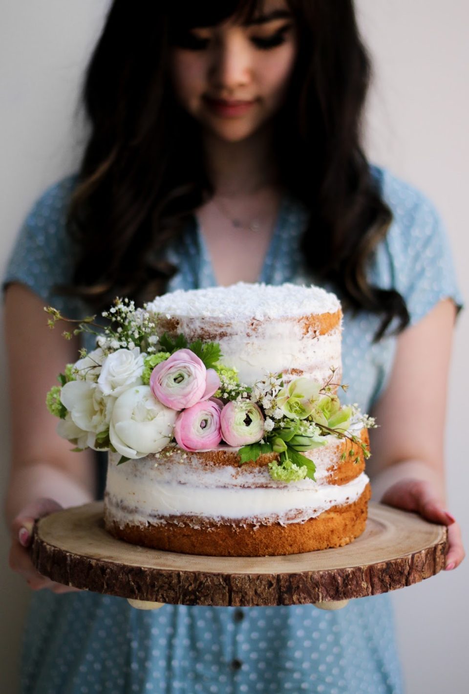
[[[259,285],[173,291],[147,305],[160,330],[218,342],[226,366],[246,385],[267,373],[284,382],[299,376],[322,384],[341,378],[341,305],[320,287]]]

